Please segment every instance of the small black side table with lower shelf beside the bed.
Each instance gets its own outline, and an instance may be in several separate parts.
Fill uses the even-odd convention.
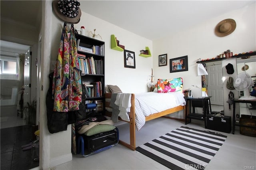
[[[186,100],[186,117],[185,124],[191,122],[191,119],[197,119],[204,121],[204,127],[206,128],[206,115],[212,112],[210,97],[185,97]],[[193,107],[193,112],[191,112],[191,103]],[[195,107],[202,107],[203,113],[195,113]],[[210,110],[209,110],[210,108]],[[189,121],[188,121],[189,119]]]

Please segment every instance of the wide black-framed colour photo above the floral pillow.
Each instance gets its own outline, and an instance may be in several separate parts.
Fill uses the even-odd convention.
[[[188,71],[188,55],[170,59],[170,73]]]

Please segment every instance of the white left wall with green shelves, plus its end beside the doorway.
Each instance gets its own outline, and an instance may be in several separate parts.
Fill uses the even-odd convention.
[[[56,61],[58,47],[60,44],[60,36],[64,24],[64,21],[60,20],[53,11],[52,13],[48,11],[51,6],[51,1],[46,1],[45,3],[47,10],[43,10],[46,14],[44,20],[50,24],[45,25],[45,33],[43,35],[43,39],[45,40],[45,42],[43,42],[44,95],[49,88],[48,74],[51,72],[49,65],[51,61]],[[70,29],[71,24],[67,25]],[[148,46],[151,49],[151,52],[153,52],[151,40],[147,40],[132,32],[128,32],[104,20],[86,14],[85,12],[82,12],[80,22],[78,24],[74,24],[74,27],[77,30],[80,30],[81,26],[85,26],[86,36],[89,36],[88,33],[90,31],[93,32],[96,28],[96,34],[100,34],[102,41],[105,42],[106,85],[118,85],[123,92],[127,93],[148,91],[146,83],[147,77],[151,74],[151,68],[153,66],[152,57],[144,58],[140,57],[138,54],[140,50],[145,49],[146,46]],[[115,34],[118,40],[120,40],[120,44],[125,45],[125,49],[135,52],[136,69],[124,68],[124,52],[112,50],[110,48],[111,34]],[[44,109],[46,110],[46,108]],[[71,154],[71,125],[68,126],[67,131],[50,134],[47,128],[46,111],[44,111],[44,114],[41,117],[41,125],[44,125],[44,127],[42,127],[42,131],[44,131],[44,139],[42,141],[42,145],[44,145],[42,148],[42,152],[44,154],[42,158],[44,163],[42,163],[41,166],[43,168],[47,168],[61,164],[63,163],[63,160],[69,161]]]

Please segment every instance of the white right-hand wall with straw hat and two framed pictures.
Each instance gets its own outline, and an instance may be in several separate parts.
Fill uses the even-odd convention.
[[[157,78],[182,77],[184,89],[192,89],[194,97],[200,97],[202,85],[201,76],[197,76],[197,59],[216,57],[227,49],[230,49],[233,54],[254,51],[256,49],[255,8],[254,3],[240,10],[212,18],[208,22],[188,28],[184,32],[154,41],[153,68],[155,80]],[[236,30],[228,36],[217,37],[214,34],[215,26],[227,18],[236,21]],[[158,55],[164,53],[168,55],[168,65],[158,67]],[[169,59],[184,55],[188,55],[188,71],[170,73]],[[225,69],[223,69],[224,71]],[[192,85],[197,85],[200,89],[192,87]],[[228,95],[226,93],[224,96]],[[227,115],[230,113],[228,112]]]

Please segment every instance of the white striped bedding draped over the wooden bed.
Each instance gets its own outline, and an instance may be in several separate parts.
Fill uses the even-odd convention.
[[[127,93],[119,93],[118,100],[122,98],[122,95]],[[127,101],[130,103],[130,101]],[[115,102],[116,103],[116,102]],[[171,109],[177,106],[186,105],[183,93],[135,93],[135,123],[137,130],[140,130],[146,122],[145,116],[159,113],[167,109]],[[129,108],[128,108],[129,109]],[[127,113],[127,117],[129,113]],[[120,114],[118,114],[120,116]],[[129,120],[128,120],[129,121]]]

